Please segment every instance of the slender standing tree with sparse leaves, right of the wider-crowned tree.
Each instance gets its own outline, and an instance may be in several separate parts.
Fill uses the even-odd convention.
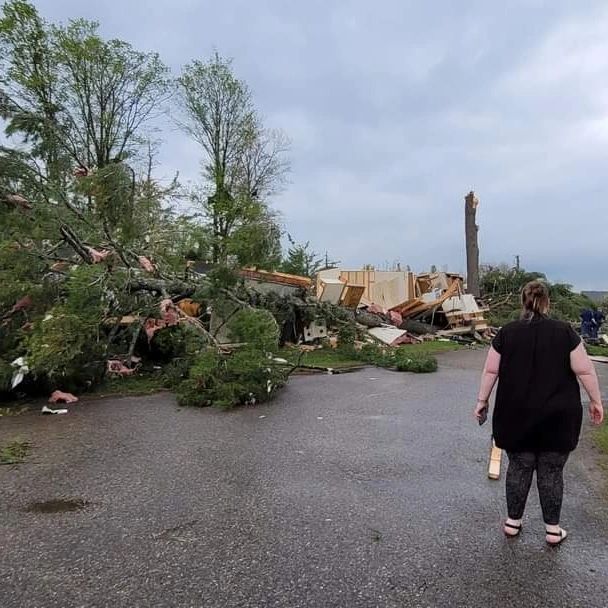
[[[217,53],[187,65],[178,86],[182,127],[205,154],[205,187],[197,200],[212,231],[212,261],[224,264],[236,255],[240,263],[269,264],[276,258],[279,228],[266,198],[282,186],[289,169],[285,136],[263,128],[248,86]],[[253,235],[258,247],[243,248],[245,235],[250,244]],[[259,247],[264,242],[268,247]]]

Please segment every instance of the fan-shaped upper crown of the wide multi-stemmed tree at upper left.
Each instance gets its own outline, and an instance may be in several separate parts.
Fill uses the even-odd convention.
[[[65,146],[81,166],[102,169],[141,146],[138,136],[162,111],[170,81],[156,53],[103,40],[97,28],[79,19],[53,28],[53,36]]]

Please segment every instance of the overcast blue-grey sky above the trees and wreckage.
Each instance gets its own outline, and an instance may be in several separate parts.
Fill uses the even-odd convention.
[[[608,3],[602,0],[38,0],[158,51],[217,49],[292,141],[273,200],[298,240],[353,268],[464,271],[464,195],[482,262],[608,289]],[[163,134],[161,175],[196,180]]]

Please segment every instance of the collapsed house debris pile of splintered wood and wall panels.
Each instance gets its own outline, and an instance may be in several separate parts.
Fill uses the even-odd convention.
[[[484,316],[488,308],[465,293],[459,274],[331,268],[311,281],[247,268],[239,275],[247,290],[240,297],[273,313],[281,344],[335,348],[344,324],[353,326],[359,349],[365,343],[396,347],[438,339],[485,343],[494,335]],[[232,314],[211,311],[209,331],[224,346],[232,342]]]

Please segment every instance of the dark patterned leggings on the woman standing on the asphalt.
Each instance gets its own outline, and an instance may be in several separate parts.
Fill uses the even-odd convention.
[[[543,519],[548,525],[557,525],[564,493],[564,465],[569,452],[508,452],[508,455],[506,485],[509,517],[522,518],[532,485],[532,476],[536,471]]]

